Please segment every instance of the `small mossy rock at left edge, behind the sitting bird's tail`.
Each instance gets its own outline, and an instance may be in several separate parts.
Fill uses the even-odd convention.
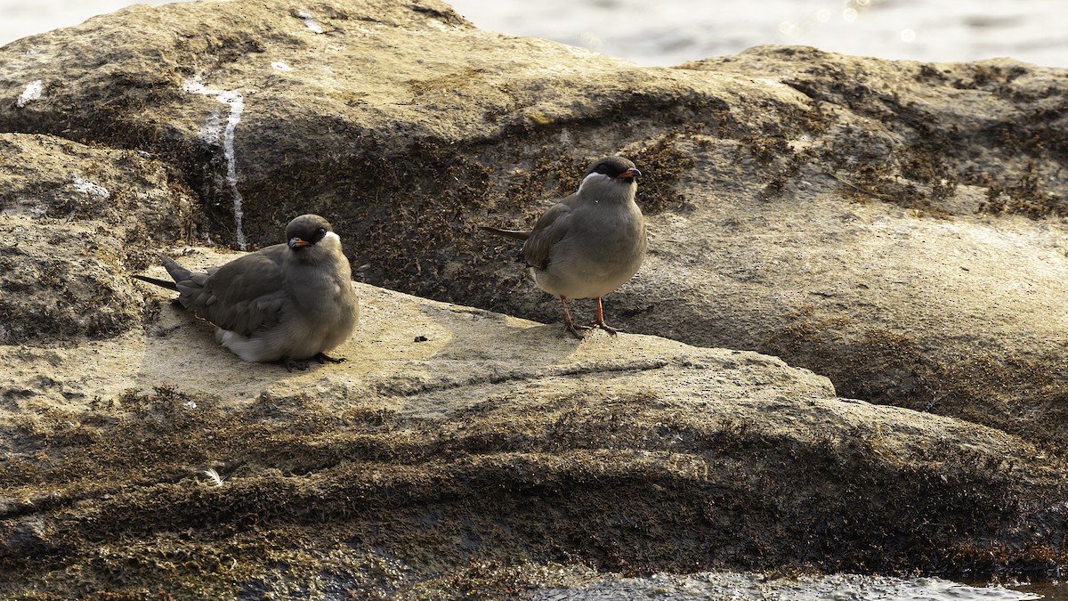
[[[127,274],[191,229],[194,201],[158,161],[50,136],[0,134],[0,344],[139,325]]]

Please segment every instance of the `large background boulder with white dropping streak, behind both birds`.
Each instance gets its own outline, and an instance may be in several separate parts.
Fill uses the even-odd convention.
[[[639,68],[384,1],[134,6],[4,56],[0,128],[152,152],[203,195],[200,236],[236,244],[236,189],[253,244],[316,211],[363,281],[539,321],[555,304],[474,226],[626,154],[653,256],[616,324],[1068,433],[1063,70],[773,47]]]

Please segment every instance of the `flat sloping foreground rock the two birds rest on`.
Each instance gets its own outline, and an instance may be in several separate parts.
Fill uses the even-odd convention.
[[[245,364],[173,308],[74,348],[0,348],[0,591],[497,597],[575,566],[989,570],[1048,565],[1063,531],[1059,466],[1017,436],[839,399],[752,352],[578,342],[358,291],[348,361],[308,371]]]

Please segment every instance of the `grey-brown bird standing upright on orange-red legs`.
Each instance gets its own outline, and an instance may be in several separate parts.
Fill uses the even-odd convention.
[[[549,207],[533,229],[480,228],[523,243],[534,283],[560,297],[564,325],[580,340],[580,330],[591,328],[615,336],[604,323],[601,297],[633,277],[645,260],[645,217],[634,202],[641,174],[627,158],[604,157],[590,167],[578,191]],[[597,319],[575,325],[568,298],[595,298]]]

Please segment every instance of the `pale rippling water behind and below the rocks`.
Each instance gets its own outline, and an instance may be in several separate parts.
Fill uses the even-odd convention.
[[[132,3],[0,0],[0,45]],[[650,66],[734,55],[760,44],[801,44],[883,59],[949,62],[1011,57],[1068,67],[1068,0],[455,0],[452,5],[482,29],[545,37]],[[848,584],[835,577],[841,580],[829,576],[789,592],[772,592],[772,597],[1009,600],[1034,599],[1040,594],[1046,599],[1068,599],[1065,585],[1056,581],[1005,589],[971,588],[932,579],[867,579]],[[635,592],[630,587],[641,590],[646,584],[655,584],[653,588],[660,594],[664,590],[663,583],[646,581],[596,585],[585,595],[554,592],[567,599],[627,598]],[[734,581],[728,588],[736,599],[766,598],[768,592],[744,580]],[[747,589],[755,597],[747,596]],[[673,592],[668,598],[714,597],[713,590],[702,587]]]

